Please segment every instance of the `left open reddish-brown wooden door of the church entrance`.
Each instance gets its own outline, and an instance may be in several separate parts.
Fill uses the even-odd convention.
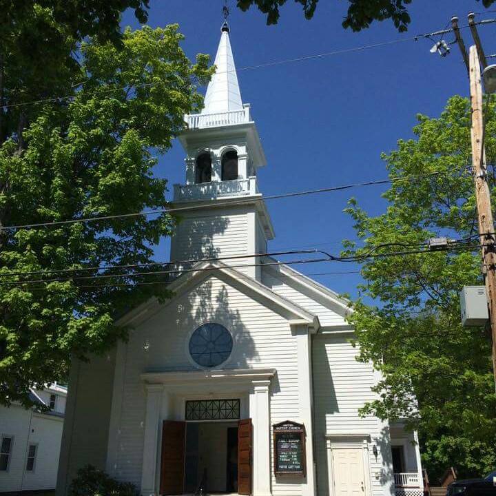
[[[162,426],[161,495],[183,494],[186,422],[164,420]]]

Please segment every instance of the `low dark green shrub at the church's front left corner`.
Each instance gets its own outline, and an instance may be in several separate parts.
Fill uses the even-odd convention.
[[[72,480],[68,496],[138,496],[138,490],[129,482],[118,482],[99,468],[86,465]]]

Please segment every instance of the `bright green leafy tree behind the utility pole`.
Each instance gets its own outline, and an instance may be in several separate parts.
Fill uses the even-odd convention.
[[[495,106],[487,109],[486,152],[495,189]],[[416,138],[384,154],[390,178],[386,211],[368,216],[351,200],[362,246],[348,254],[416,251],[432,236],[466,239],[450,251],[376,256],[362,262],[364,283],[351,322],[360,360],[382,372],[378,399],[362,413],[406,418],[420,432],[431,479],[448,466],[462,476],[496,466],[496,395],[487,329],[462,328],[458,292],[482,285],[471,174],[470,105],[455,96],[439,118],[420,115]],[[371,304],[375,302],[375,304]],[[368,303],[368,304],[367,304]],[[414,400],[416,398],[416,401]]]

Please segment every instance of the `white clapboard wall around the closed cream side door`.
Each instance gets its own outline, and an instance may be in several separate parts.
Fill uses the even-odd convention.
[[[371,364],[355,360],[358,348],[350,335],[320,334],[313,338],[313,390],[318,468],[318,496],[329,496],[326,435],[364,435],[371,437],[369,464],[373,496],[384,494],[380,474],[384,473],[382,455],[373,455],[373,443],[382,439],[382,424],[372,415],[360,417],[358,409],[375,399],[371,391],[374,372]],[[380,445],[380,442],[378,443]],[[378,474],[378,477],[375,477]]]

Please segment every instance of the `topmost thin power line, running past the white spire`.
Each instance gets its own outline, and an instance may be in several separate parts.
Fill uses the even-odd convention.
[[[477,21],[475,25],[484,25],[484,24],[489,24],[489,23],[494,23],[496,22],[496,19],[486,19],[484,21]],[[465,29],[468,28],[468,25],[463,25],[459,26],[459,29]],[[371,48],[380,48],[386,45],[393,45],[396,43],[404,43],[406,41],[418,41],[419,39],[429,39],[430,37],[437,36],[440,34],[446,34],[448,32],[453,32],[453,28],[449,29],[444,29],[444,30],[439,30],[439,31],[434,31],[431,33],[424,33],[424,34],[416,34],[413,37],[409,38],[402,38],[402,39],[394,39],[390,41],[382,41],[379,43],[371,43],[370,45],[362,45],[359,47],[354,47],[354,48],[344,48],[342,50],[333,50],[331,52],[324,52],[324,53],[319,53],[319,54],[310,54],[310,55],[305,55],[305,56],[300,56],[296,57],[293,59],[282,59],[278,61],[271,61],[271,62],[266,62],[266,63],[260,63],[256,65],[247,65],[242,68],[238,68],[238,72],[240,71],[245,71],[245,70],[253,70],[253,69],[260,69],[260,68],[266,68],[266,67],[271,67],[273,65],[282,65],[285,63],[295,63],[295,62],[301,62],[301,61],[307,61],[311,59],[320,59],[323,57],[327,56],[333,56],[333,55],[340,55],[340,54],[347,54],[347,53],[353,53],[353,52],[361,52],[362,50],[369,50]],[[231,71],[223,71],[223,72],[216,72],[215,74],[224,74],[225,72],[236,72],[236,70],[231,70]],[[158,83],[138,83],[135,85],[127,85],[127,86],[121,86],[121,87],[116,87],[116,88],[108,88],[108,89],[103,89],[103,90],[94,90],[94,94],[100,94],[100,93],[112,93],[112,92],[117,92],[117,91],[123,91],[123,90],[128,90],[130,88],[140,88],[140,87],[149,87],[149,86],[154,86],[157,85]],[[80,92],[72,95],[64,95],[64,96],[54,96],[49,99],[39,99],[39,100],[32,100],[28,102],[19,102],[19,103],[10,103],[9,105],[3,105],[3,108],[12,108],[12,107],[22,107],[26,105],[36,105],[38,103],[52,103],[56,101],[65,101],[65,100],[70,100],[76,98],[76,96],[79,96],[81,94],[92,94],[92,92],[88,91],[85,92],[84,90],[81,90]]]

